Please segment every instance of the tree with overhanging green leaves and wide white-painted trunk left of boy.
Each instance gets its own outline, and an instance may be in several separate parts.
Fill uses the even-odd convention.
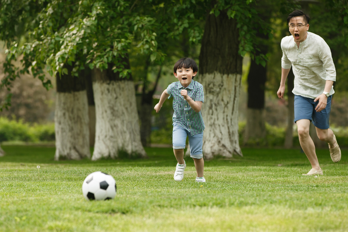
[[[49,2],[37,19],[39,24],[31,30],[29,42],[22,47],[13,43],[9,49],[7,64],[10,65],[11,59],[15,59],[17,54],[23,54],[24,71],[30,69],[34,75],[39,75],[47,65],[48,72],[52,75],[74,77],[78,77],[87,64],[93,70],[95,99],[101,99],[98,94],[113,92],[112,86],[133,86],[126,54],[135,33],[140,34],[142,38],[138,43],[141,49],[150,51],[150,55],[156,52],[156,33],[152,32],[150,27],[154,22],[153,19],[133,14],[132,6],[126,1]],[[156,55],[160,56],[160,53],[156,52]],[[66,65],[72,66],[71,72]],[[10,68],[8,71],[15,72]],[[105,77],[105,74],[111,75],[111,73],[118,79],[114,79],[115,76]],[[99,85],[100,78],[108,85]],[[102,89],[95,90],[95,86]],[[125,97],[129,93],[134,94],[134,88],[131,88],[133,92],[127,92],[129,88],[126,86],[118,89],[113,99],[108,98],[110,101],[108,104],[99,105],[100,111],[96,114],[117,111],[118,106],[128,106],[132,107],[132,110],[128,111],[129,115],[137,115],[134,113],[135,97]],[[99,103],[97,100],[95,102]],[[137,118],[128,117],[128,114],[122,116],[112,118],[112,121],[110,117],[96,117],[97,120],[102,120],[97,121],[96,125],[110,125],[110,123],[111,125],[106,130],[99,130],[103,136],[98,134],[98,130],[96,131],[96,138],[103,137],[104,140],[101,143],[96,141],[93,160],[101,157],[116,158],[119,151],[146,156],[140,143],[139,133],[136,133],[139,130]],[[109,130],[117,128],[113,123],[117,123],[123,131],[129,131],[128,136],[123,134],[124,139],[121,144],[113,143],[114,139],[105,139],[116,138],[116,135],[119,135],[118,131]]]

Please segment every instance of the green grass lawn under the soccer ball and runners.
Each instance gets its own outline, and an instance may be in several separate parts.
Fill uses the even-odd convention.
[[[310,165],[299,150],[243,149],[205,161],[199,184],[190,158],[174,181],[170,148],[95,162],[54,161],[52,147],[2,149],[0,231],[348,231],[347,150],[339,163],[318,150],[324,175],[315,178],[301,175]],[[115,199],[83,198],[82,182],[98,170],[115,178]]]

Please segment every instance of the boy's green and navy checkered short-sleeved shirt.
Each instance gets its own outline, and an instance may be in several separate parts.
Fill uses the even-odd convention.
[[[193,101],[204,102],[203,86],[199,82],[192,80],[187,88],[183,87],[180,81],[171,83],[167,88],[168,99],[174,98],[173,122],[188,130],[191,135],[199,134],[205,128],[202,114],[200,111],[198,113],[194,111],[184,97],[181,96],[180,92],[182,89],[187,90],[187,94]]]

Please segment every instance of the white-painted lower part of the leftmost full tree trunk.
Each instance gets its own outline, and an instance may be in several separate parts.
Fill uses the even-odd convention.
[[[86,90],[57,92],[55,109],[55,160],[90,158]]]

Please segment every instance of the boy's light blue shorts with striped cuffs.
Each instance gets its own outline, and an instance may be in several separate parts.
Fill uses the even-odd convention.
[[[189,131],[177,125],[177,123],[173,123],[173,149],[184,149],[187,136],[189,136],[190,157],[203,158],[203,132],[192,136]]]

